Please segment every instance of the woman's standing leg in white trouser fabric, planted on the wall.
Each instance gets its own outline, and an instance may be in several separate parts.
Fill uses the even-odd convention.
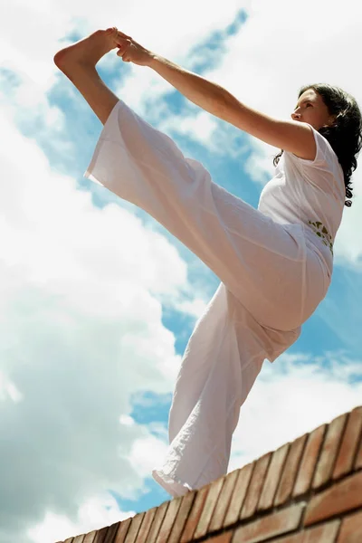
[[[266,353],[259,325],[221,283],[188,342],[168,420],[169,447],[154,479],[172,496],[227,472],[240,408]]]

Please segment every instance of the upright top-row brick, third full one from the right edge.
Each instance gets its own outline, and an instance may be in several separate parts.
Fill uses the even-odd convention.
[[[297,480],[295,481],[292,497],[296,498],[310,490],[310,482],[317,464],[321,444],[326,430],[326,424],[322,424],[310,433],[300,464]]]

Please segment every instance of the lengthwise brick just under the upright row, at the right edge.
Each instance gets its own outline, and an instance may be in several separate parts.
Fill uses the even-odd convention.
[[[305,525],[362,507],[362,472],[354,473],[310,499]]]

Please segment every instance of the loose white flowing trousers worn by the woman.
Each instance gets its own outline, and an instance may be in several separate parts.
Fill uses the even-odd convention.
[[[276,224],[217,186],[122,100],[85,176],[152,215],[222,281],[186,347],[167,456],[152,472],[183,495],[227,472],[240,407],[263,360],[300,336],[329,278],[303,225]]]

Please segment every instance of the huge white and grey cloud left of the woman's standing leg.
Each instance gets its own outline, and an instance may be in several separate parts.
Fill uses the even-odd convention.
[[[0,117],[0,540],[7,543],[25,540],[32,524],[39,541],[52,523],[61,532],[90,529],[71,517],[95,491],[129,498],[146,491],[149,459],[139,457],[138,443],[162,452],[164,441],[124,422],[135,392],[172,392],[180,357],[156,296],[182,302],[189,287],[186,263],[165,238],[118,205],[92,205],[90,193],[52,171],[11,115]]]

